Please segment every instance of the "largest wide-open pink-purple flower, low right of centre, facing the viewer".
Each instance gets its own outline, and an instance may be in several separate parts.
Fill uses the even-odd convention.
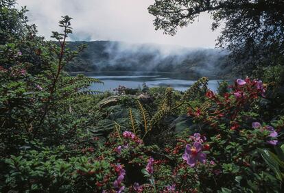
[[[182,155],[182,159],[187,161],[189,166],[196,166],[197,162],[205,163],[206,162],[206,154],[202,153],[202,144],[200,142],[194,142],[193,146],[187,144],[185,146],[185,154]]]

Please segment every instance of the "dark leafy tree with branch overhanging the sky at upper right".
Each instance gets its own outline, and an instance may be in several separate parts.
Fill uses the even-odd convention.
[[[284,62],[283,0],[156,0],[148,9],[156,29],[172,36],[202,12],[211,14],[213,30],[224,24],[217,47],[230,51],[239,72]]]

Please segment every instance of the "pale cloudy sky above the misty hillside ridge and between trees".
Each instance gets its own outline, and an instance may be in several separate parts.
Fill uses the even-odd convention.
[[[38,33],[50,39],[58,31],[61,16],[73,18],[73,34],[69,40],[114,40],[129,43],[154,43],[182,47],[213,48],[220,31],[211,31],[209,14],[178,30],[175,36],[154,29],[154,16],[147,8],[154,0],[18,0],[27,5],[29,23],[38,26]]]

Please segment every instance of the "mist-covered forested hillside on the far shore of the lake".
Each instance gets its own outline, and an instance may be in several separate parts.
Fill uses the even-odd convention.
[[[231,72],[231,66],[226,66],[227,53],[221,49],[187,49],[110,41],[69,42],[69,47],[73,49],[83,43],[88,47],[66,67],[66,70],[174,71],[206,76],[228,75]]]

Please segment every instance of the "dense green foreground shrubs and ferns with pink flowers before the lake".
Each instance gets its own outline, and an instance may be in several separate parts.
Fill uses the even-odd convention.
[[[14,3],[0,0],[0,192],[283,192],[279,68],[216,93],[206,77],[99,93],[63,70],[85,49],[69,49],[71,18],[49,42]]]

